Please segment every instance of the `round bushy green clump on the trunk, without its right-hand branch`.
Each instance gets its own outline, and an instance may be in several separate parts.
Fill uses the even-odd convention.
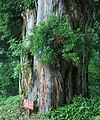
[[[37,54],[43,62],[55,63],[62,56],[67,58],[66,55],[74,47],[75,34],[66,17],[51,16],[33,31],[30,51],[33,55]]]

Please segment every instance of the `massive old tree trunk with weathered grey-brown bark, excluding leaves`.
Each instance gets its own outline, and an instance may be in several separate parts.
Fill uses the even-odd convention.
[[[51,14],[68,15],[74,29],[85,31],[92,25],[93,6],[91,0],[38,0],[33,10],[27,10],[23,17],[23,36],[30,33],[32,26],[39,25]],[[27,64],[24,64],[28,61]],[[37,56],[30,53],[21,56],[24,72],[19,84],[20,93],[31,98],[40,112],[69,103],[74,95],[88,95],[87,56],[80,56],[81,69],[61,59],[57,65],[41,65]],[[85,68],[85,69],[84,69]],[[28,73],[28,74],[27,74]]]

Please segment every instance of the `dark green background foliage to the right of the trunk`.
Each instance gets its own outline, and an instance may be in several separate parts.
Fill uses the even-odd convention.
[[[89,64],[89,83],[92,91],[96,91],[98,94],[98,88],[100,87],[100,1],[94,2],[94,23],[96,23],[96,31],[99,39],[96,42],[93,50],[93,55]],[[94,89],[94,87],[96,89]],[[98,94],[99,95],[99,94]]]

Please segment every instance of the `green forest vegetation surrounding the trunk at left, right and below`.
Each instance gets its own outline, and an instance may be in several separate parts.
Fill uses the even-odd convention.
[[[19,57],[12,55],[8,41],[16,39],[19,42],[22,39],[21,12],[34,5],[33,1],[29,1],[0,1],[0,120],[28,119],[27,111],[22,108],[22,101],[15,96],[18,95],[18,74],[15,71],[18,72],[16,63]],[[100,23],[99,8],[100,2],[95,1],[94,21]],[[100,35],[100,30],[97,32]],[[30,119],[100,120],[100,40],[89,63],[89,90],[88,99],[76,96],[70,105],[59,107],[44,115],[33,114]]]

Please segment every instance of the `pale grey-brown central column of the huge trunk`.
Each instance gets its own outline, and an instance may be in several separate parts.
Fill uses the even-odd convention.
[[[52,13],[62,15],[64,6],[61,1],[38,0],[37,25],[46,20]],[[35,59],[38,61],[38,59]],[[39,62],[39,61],[38,61]],[[38,66],[39,79],[39,111],[45,112],[50,108],[58,107],[64,103],[64,80],[59,65]]]

